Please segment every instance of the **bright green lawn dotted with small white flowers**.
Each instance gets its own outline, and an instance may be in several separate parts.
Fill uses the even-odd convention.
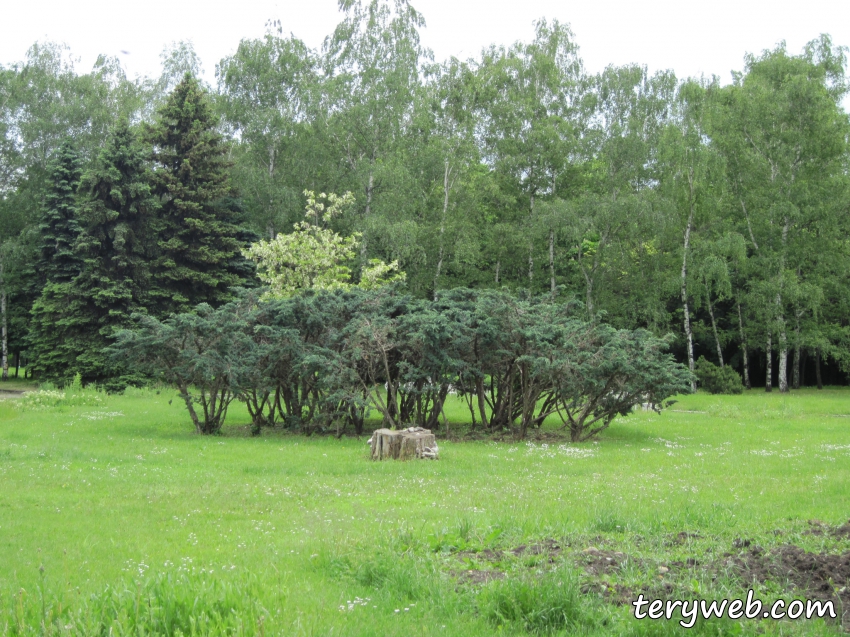
[[[597,443],[441,440],[439,461],[408,463],[369,461],[365,438],[247,437],[238,406],[225,436],[203,438],[168,391],[15,400],[0,402],[0,634],[837,631],[686,631],[631,619],[600,591],[738,594],[714,566],[737,539],[850,550],[806,533],[850,517],[847,390],[699,394],[620,419]],[[468,419],[460,402],[448,413]],[[671,540],[682,531],[698,537]],[[551,562],[509,552],[550,539],[562,547]],[[626,565],[589,574],[588,547]],[[689,557],[700,566],[659,575]]]

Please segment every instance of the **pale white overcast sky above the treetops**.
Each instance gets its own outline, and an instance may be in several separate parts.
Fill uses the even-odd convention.
[[[189,40],[207,81],[242,38],[279,19],[319,47],[340,20],[336,0],[0,0],[0,64],[22,60],[35,41],[64,42],[91,68],[117,56],[129,75],[159,75],[159,54]],[[792,53],[821,33],[850,45],[850,1],[809,0],[414,0],[425,46],[437,60],[474,57],[489,44],[529,40],[540,17],[569,23],[589,71],[638,62],[677,76],[718,75],[724,83],[758,53],[785,40]]]

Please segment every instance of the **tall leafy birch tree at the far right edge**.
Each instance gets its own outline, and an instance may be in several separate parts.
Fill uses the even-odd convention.
[[[800,56],[784,43],[761,56],[747,56],[722,96],[718,138],[738,169],[746,232],[759,264],[761,313],[767,321],[768,368],[773,337],[779,350],[779,389],[788,391],[789,281],[802,273],[800,250],[818,223],[822,201],[810,193],[842,169],[847,118],[840,100],[847,93],[845,58],[827,36],[809,43]],[[768,377],[767,388],[770,387]]]

